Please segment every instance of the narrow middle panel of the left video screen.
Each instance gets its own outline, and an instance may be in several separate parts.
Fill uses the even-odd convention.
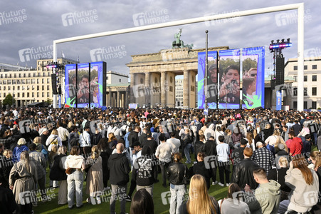
[[[84,108],[89,105],[90,81],[89,63],[79,63],[77,71],[77,108]]]

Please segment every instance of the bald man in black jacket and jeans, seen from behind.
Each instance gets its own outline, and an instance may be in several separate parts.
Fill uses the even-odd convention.
[[[117,153],[112,154],[108,160],[108,168],[110,169],[110,184],[112,185],[112,196],[110,199],[110,213],[115,213],[116,199],[120,199],[120,213],[126,211],[126,195],[127,183],[130,180],[130,162],[122,153],[124,144],[118,143],[116,146]]]

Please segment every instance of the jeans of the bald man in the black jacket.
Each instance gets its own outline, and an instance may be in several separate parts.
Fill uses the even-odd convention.
[[[120,214],[126,213],[126,200],[123,198],[126,195],[126,185],[112,184],[112,197],[110,198],[110,213],[115,213],[116,200],[120,200]]]

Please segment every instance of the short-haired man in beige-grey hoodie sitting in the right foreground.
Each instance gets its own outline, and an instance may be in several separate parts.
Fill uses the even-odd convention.
[[[251,195],[251,188],[246,185],[244,190],[249,197],[246,203],[251,210],[251,213],[273,214],[278,213],[280,205],[280,184],[275,180],[268,180],[266,172],[263,168],[253,170],[254,180],[258,183],[254,197]]]

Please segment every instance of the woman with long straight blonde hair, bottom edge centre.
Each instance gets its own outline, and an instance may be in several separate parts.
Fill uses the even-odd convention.
[[[206,181],[202,175],[193,175],[189,183],[189,200],[183,206],[183,213],[219,213],[219,203],[209,195]]]

